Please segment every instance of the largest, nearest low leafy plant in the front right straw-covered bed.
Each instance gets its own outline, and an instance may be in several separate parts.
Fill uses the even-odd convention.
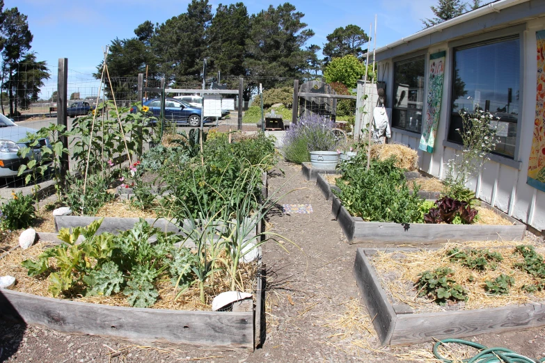
[[[456,280],[452,279],[454,271],[447,267],[424,271],[418,275],[416,288],[418,296],[427,296],[439,305],[446,305],[447,301],[467,300],[467,291]]]

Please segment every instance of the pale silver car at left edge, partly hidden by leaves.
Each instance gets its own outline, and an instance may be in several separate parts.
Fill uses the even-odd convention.
[[[28,143],[21,142],[20,140],[26,138],[26,133],[30,132],[35,134],[35,129],[29,129],[29,127],[17,126],[12,119],[6,118],[6,116],[0,113],[0,177],[15,177],[19,171],[21,164],[29,162],[29,157],[22,158],[19,156],[19,150],[28,146]],[[36,160],[42,159],[42,146],[49,145],[47,138],[39,140],[39,144],[33,150],[33,155]],[[29,172],[30,170],[26,170]],[[26,173],[25,172],[25,173]]]

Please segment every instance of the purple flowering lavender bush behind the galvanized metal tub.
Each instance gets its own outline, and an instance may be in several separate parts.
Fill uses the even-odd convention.
[[[311,151],[335,151],[338,140],[333,134],[335,124],[320,115],[307,115],[292,124],[283,139],[282,152],[288,161],[310,161]]]

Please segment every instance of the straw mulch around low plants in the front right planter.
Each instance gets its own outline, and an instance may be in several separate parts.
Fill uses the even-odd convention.
[[[520,254],[514,254],[514,246],[520,244],[537,245],[535,241],[477,241],[468,243],[448,243],[440,250],[416,250],[415,252],[378,252],[370,258],[371,264],[377,271],[382,287],[386,295],[393,303],[404,303],[411,306],[416,312],[440,312],[443,310],[471,310],[485,307],[503,307],[506,305],[518,305],[531,301],[545,299],[545,291],[526,293],[521,288],[525,284],[534,283],[534,279],[528,273],[514,268],[514,263],[523,262]],[[450,248],[489,248],[498,251],[503,256],[503,261],[498,262],[496,270],[473,271],[461,266],[457,262],[450,262],[446,251]],[[544,253],[542,243],[536,246],[539,253]],[[434,271],[439,267],[448,267],[455,271],[454,280],[468,290],[468,300],[457,302],[452,306],[441,307],[429,298],[418,298],[418,291],[414,283],[418,281],[418,275],[424,271]],[[511,275],[515,284],[507,295],[488,295],[484,290],[485,280],[494,280],[501,273]],[[473,282],[468,281],[473,277]]]

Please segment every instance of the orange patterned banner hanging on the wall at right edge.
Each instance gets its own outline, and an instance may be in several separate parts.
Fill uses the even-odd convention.
[[[537,35],[537,95],[534,136],[528,163],[528,184],[545,191],[545,31]]]

